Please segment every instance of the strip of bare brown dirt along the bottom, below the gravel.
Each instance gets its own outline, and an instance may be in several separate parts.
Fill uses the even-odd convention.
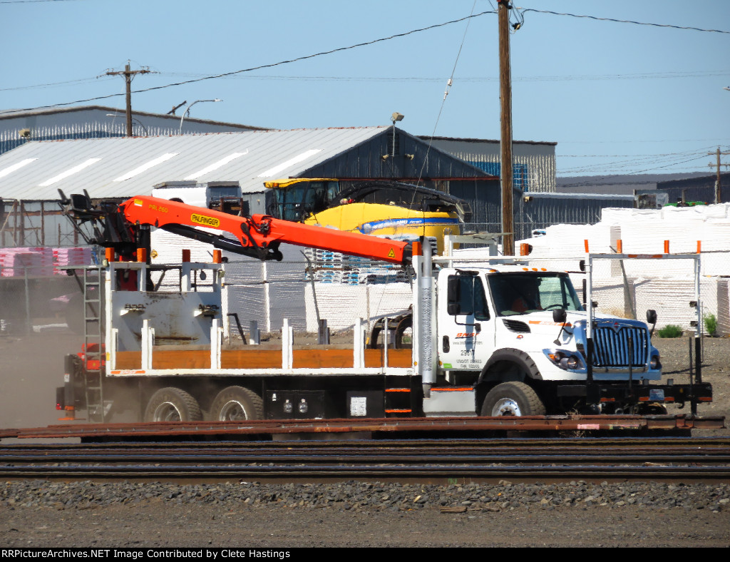
[[[0,510],[5,547],[727,547],[730,511],[566,507],[441,513],[169,506]]]

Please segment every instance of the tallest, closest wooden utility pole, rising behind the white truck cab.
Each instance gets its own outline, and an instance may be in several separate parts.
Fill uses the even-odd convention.
[[[515,217],[512,209],[512,69],[510,66],[509,0],[497,0],[499,12],[500,172],[502,182],[502,254],[515,255]]]

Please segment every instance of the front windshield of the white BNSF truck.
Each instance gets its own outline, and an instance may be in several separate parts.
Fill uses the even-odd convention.
[[[567,274],[496,273],[487,279],[500,316],[558,308],[583,310]]]

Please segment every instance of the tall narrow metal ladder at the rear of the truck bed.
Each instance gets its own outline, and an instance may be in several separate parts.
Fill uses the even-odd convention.
[[[101,288],[104,270],[98,267],[83,270],[84,303],[84,388],[86,410],[90,422],[104,423],[104,358],[101,349],[102,303]]]

